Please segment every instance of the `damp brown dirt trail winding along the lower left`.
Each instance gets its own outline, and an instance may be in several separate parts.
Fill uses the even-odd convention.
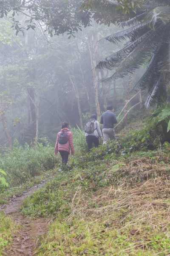
[[[43,236],[48,230],[49,219],[23,217],[20,215],[19,210],[23,200],[43,186],[45,186],[45,182],[34,186],[19,198],[15,198],[11,203],[0,207],[0,210],[3,210],[6,215],[11,215],[16,224],[19,225],[19,229],[12,236],[11,245],[3,251],[3,256],[35,255],[34,251],[40,241],[40,236]]]

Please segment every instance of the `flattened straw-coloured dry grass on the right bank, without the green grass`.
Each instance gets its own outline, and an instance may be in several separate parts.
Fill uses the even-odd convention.
[[[124,178],[118,187],[99,189],[91,197],[90,205],[89,198],[78,188],[66,223],[73,220],[90,221],[91,225],[94,222],[99,226],[102,223],[108,231],[116,229],[119,235],[126,234],[125,240],[131,242],[130,246],[125,246],[121,254],[115,250],[113,255],[126,252],[130,255],[141,248],[143,251],[153,249],[154,243],[158,249],[151,255],[166,255],[169,248],[161,248],[159,244],[163,237],[169,239],[170,174],[164,166],[152,165],[146,159],[133,160],[119,172],[125,173],[125,177],[128,174],[130,182]],[[110,171],[109,175],[111,178],[113,173]],[[134,180],[142,181],[134,183]]]

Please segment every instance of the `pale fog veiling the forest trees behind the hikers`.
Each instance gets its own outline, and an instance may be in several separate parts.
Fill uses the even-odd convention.
[[[92,22],[74,35],[50,37],[37,25],[36,30],[16,36],[11,23],[0,20],[1,151],[15,139],[30,144],[34,138],[46,137],[54,143],[63,121],[83,129],[90,114],[99,117],[108,104],[119,114],[134,95],[130,89],[144,68],[134,76],[105,83],[100,79],[111,76],[113,70],[96,70],[95,66],[125,47],[126,42],[100,42],[120,30]],[[137,102],[139,96],[130,105]]]

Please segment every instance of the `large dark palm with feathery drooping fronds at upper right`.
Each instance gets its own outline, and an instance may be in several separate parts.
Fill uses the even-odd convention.
[[[147,65],[133,91],[147,93],[145,108],[148,108],[167,96],[170,83],[170,0],[144,1],[143,8],[138,6],[136,12],[131,11],[124,16],[116,11],[117,5],[116,1],[105,0],[105,8],[111,9],[112,6],[114,17],[117,12],[113,23],[130,28],[104,39],[113,44],[123,40],[129,40],[129,43],[100,61],[96,68],[114,70],[111,77],[104,79],[111,83]]]

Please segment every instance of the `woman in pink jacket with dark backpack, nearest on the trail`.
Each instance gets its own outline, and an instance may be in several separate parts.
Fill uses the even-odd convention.
[[[62,129],[57,134],[57,141],[54,149],[55,155],[59,152],[62,157],[62,164],[66,165],[68,162],[68,155],[74,155],[74,145],[73,145],[73,134],[68,129],[68,122],[62,123]]]

